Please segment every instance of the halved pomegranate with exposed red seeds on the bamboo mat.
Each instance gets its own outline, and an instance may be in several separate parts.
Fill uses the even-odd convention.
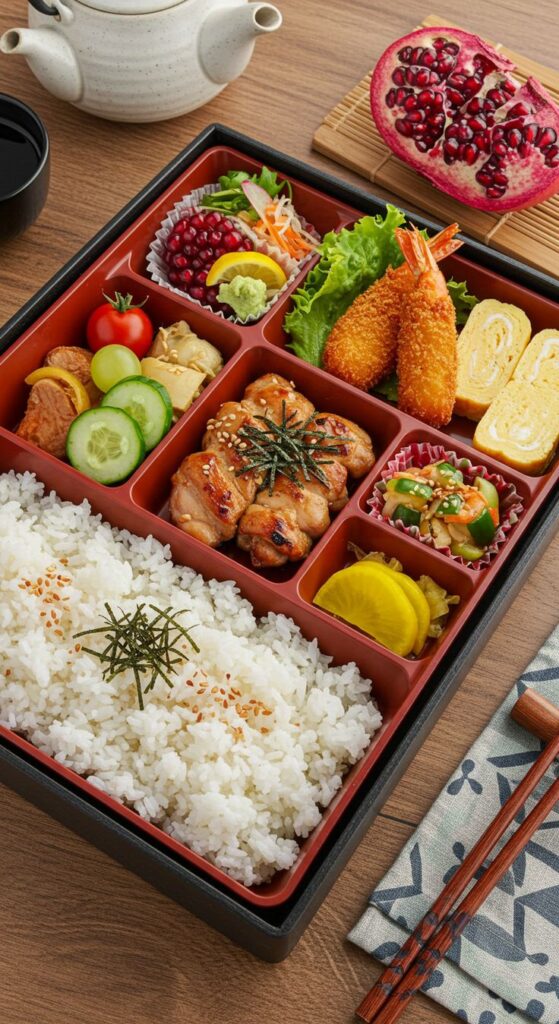
[[[505,213],[559,191],[559,106],[543,85],[459,29],[420,29],[392,43],[371,82],[391,150],[441,191]]]

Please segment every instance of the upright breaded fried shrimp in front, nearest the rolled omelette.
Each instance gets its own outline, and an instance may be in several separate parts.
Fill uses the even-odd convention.
[[[398,407],[443,427],[455,406],[458,375],[456,313],[446,282],[419,231],[396,229],[416,288],[398,334]]]

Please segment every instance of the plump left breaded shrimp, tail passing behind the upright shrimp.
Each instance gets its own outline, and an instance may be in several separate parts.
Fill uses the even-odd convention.
[[[460,248],[455,236],[458,224],[450,224],[429,240],[435,259],[443,259]],[[396,237],[407,236],[396,231]],[[408,245],[404,239],[404,245]],[[403,250],[402,250],[403,251]],[[428,250],[429,251],[429,250]],[[347,312],[334,325],[322,355],[322,367],[340,380],[370,391],[396,365],[396,348],[401,310],[415,287],[407,263],[371,285],[352,302]]]

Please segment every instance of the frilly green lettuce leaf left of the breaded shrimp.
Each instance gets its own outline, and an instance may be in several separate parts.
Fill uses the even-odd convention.
[[[285,319],[289,347],[300,358],[319,367],[336,321],[388,266],[402,262],[394,229],[404,220],[400,210],[388,205],[385,217],[361,217],[354,227],[325,236],[320,260],[295,292]]]

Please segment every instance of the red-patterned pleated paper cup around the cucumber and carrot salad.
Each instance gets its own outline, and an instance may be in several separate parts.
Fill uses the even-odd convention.
[[[428,466],[433,462],[440,462],[443,459],[445,462],[449,462],[451,466],[456,466],[457,469],[462,470],[464,474],[464,481],[473,485],[476,476],[482,476],[486,480],[489,480],[496,487],[499,494],[499,513],[500,513],[500,525],[494,535],[491,545],[486,548],[485,554],[482,558],[478,558],[475,562],[468,562],[465,558],[459,555],[453,555],[449,548],[437,548],[443,555],[447,555],[453,558],[454,561],[459,562],[461,565],[467,565],[471,569],[482,569],[486,568],[494,558],[501,546],[507,540],[507,536],[518,522],[523,510],[523,502],[518,494],[516,487],[513,483],[508,483],[502,476],[498,473],[489,473],[484,466],[474,466],[474,464],[469,459],[461,459],[456,452],[448,452],[441,444],[429,444],[428,441],[416,442],[414,444],[408,444],[406,447],[402,449],[390,462],[387,463],[386,469],[383,470],[380,480],[375,484],[375,489],[372,497],[369,499],[369,506],[371,507],[371,515],[375,519],[380,519],[383,522],[388,520],[383,515],[384,506],[384,495],[386,493],[386,483],[396,472],[401,472],[402,470],[410,469],[412,466],[416,468],[423,469],[424,466]],[[427,544],[429,547],[434,548],[433,538],[423,537],[419,531],[419,526],[404,526],[401,521],[393,523],[390,520],[391,525],[396,529],[399,529],[402,534],[407,534],[410,537],[415,538],[417,541],[421,541],[422,544]],[[473,543],[473,542],[472,542]]]

